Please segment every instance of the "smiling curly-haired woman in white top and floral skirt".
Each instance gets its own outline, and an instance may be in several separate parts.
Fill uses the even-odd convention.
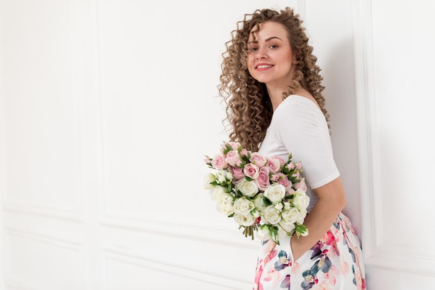
[[[262,241],[254,290],[366,289],[361,245],[329,136],[320,68],[302,21],[290,8],[256,10],[227,42],[220,96],[231,141],[304,164],[306,237]]]

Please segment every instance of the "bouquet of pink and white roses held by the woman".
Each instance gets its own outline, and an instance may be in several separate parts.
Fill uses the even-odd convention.
[[[279,156],[265,157],[240,146],[224,142],[213,158],[205,162],[212,169],[204,180],[217,210],[233,218],[245,237],[272,239],[294,233],[307,235],[303,225],[309,196],[301,162]]]

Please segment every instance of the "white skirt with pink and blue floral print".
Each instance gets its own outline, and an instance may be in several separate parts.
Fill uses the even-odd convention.
[[[253,290],[365,290],[361,243],[345,214],[311,250],[293,261],[290,237],[262,241]]]

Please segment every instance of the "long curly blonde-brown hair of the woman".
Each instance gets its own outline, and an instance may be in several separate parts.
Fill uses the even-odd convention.
[[[278,22],[287,29],[290,47],[297,56],[293,81],[283,92],[283,100],[293,94],[297,87],[306,89],[320,105],[327,121],[329,115],[325,109],[325,98],[322,96],[322,76],[320,67],[315,65],[317,58],[313,56],[313,47],[308,44],[309,37],[302,27],[302,20],[292,8],[284,10],[255,10],[245,14],[242,21],[237,22],[237,29],[231,31],[232,39],[225,43],[226,51],[222,53],[219,95],[227,104],[227,125],[231,126],[229,139],[240,142],[245,148],[257,151],[265,137],[266,130],[272,120],[272,104],[264,83],[255,80],[247,69],[247,42],[249,33],[258,30],[263,22]]]

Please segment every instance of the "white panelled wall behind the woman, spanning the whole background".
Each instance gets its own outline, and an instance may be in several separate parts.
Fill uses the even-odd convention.
[[[402,4],[268,2],[312,37],[369,290],[435,282],[420,181],[434,176],[434,4]],[[214,209],[202,157],[226,139],[224,42],[263,7],[0,0],[0,289],[250,289],[258,241]]]

